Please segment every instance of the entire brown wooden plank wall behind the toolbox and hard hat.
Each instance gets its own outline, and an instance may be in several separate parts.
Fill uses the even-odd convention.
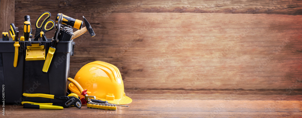
[[[301,1],[15,0],[16,27],[44,11],[94,28],[75,39],[70,77],[105,61],[126,90],[302,90]]]

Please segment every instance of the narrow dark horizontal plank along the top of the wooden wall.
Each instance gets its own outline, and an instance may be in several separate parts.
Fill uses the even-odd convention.
[[[26,8],[33,3],[35,7]],[[18,4],[16,10],[21,12],[85,12],[94,15],[111,14],[112,12],[218,12],[302,15],[301,3],[299,0],[46,0],[43,2],[16,0],[16,4]]]

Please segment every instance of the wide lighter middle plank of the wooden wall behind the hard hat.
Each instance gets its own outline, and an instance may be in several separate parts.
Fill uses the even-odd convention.
[[[102,28],[94,27],[102,34],[80,38],[72,59],[116,65],[126,89],[302,87],[301,16],[114,13],[101,21]]]

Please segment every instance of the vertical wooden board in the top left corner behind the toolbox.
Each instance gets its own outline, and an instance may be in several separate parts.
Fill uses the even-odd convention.
[[[9,25],[15,21],[15,2],[13,0],[0,1],[0,33],[8,32]],[[9,34],[8,34],[9,35]],[[9,36],[10,37],[10,36]]]

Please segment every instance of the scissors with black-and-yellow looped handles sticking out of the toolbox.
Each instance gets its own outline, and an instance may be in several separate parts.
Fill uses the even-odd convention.
[[[44,15],[48,15],[48,16],[43,20],[42,24],[40,26],[38,26],[38,23],[39,23],[40,19]],[[51,16],[50,12],[46,11],[46,12],[42,13],[38,17],[38,19],[37,19],[37,21],[35,23],[35,25],[36,25],[36,33],[35,33],[34,41],[38,41],[40,38],[43,38],[43,40],[47,41],[47,39],[45,37],[45,33],[47,31],[52,30],[55,27],[55,22],[53,20],[48,20],[50,18],[50,16]],[[46,29],[46,27],[47,27],[48,24],[52,24],[52,25],[50,25],[51,27],[49,29]]]

